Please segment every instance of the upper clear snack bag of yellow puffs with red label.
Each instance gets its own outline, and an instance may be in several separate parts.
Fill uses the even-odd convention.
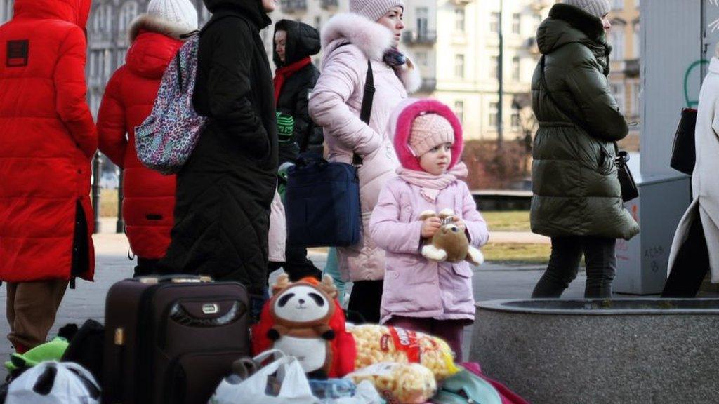
[[[347,331],[357,345],[355,369],[379,362],[418,363],[431,370],[438,382],[459,372],[452,349],[434,336],[373,324],[348,324]]]

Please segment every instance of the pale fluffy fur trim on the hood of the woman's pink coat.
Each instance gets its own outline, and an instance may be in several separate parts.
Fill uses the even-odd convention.
[[[392,32],[381,24],[354,13],[342,13],[329,19],[321,34],[325,55],[344,43],[352,43],[367,58],[381,61],[385,51],[392,47]],[[410,58],[406,65],[395,69],[398,78],[408,93],[417,91],[422,85],[418,68]]]

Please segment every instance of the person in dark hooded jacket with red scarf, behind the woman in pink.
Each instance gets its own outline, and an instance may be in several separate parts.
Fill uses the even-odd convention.
[[[319,32],[313,27],[289,19],[275,24],[273,59],[275,70],[275,103],[278,112],[280,167],[296,162],[300,152],[322,155],[322,128],[310,118],[307,104],[319,70],[311,56],[320,50]],[[280,181],[283,178],[280,177]],[[272,236],[272,234],[270,234]],[[285,247],[285,262],[270,262],[270,271],[283,267],[290,280],[306,276],[321,278],[322,272],[307,259],[307,249]]]

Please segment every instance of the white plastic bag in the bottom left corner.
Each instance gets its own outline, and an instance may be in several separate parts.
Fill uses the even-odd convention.
[[[47,361],[27,369],[8,387],[5,404],[98,404],[100,387],[79,364]]]

